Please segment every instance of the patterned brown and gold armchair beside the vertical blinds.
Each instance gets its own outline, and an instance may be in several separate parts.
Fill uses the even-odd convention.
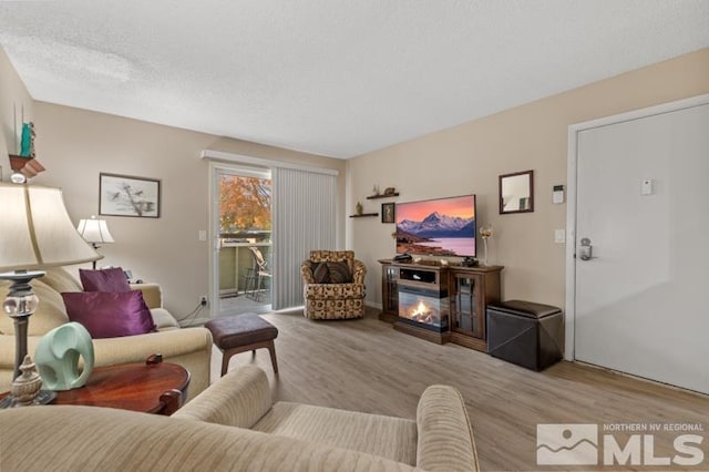
[[[300,265],[304,315],[309,319],[364,316],[367,267],[351,250],[311,250]]]

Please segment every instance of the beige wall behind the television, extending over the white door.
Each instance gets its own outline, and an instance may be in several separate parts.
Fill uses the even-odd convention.
[[[484,93],[484,91],[481,91]],[[566,185],[568,125],[709,93],[709,49],[592,83],[348,161],[348,211],[367,201],[372,185],[394,186],[394,202],[475,193],[479,224],[491,222],[490,263],[505,266],[503,298],[564,306],[565,246],[554,229],[566,226],[566,205],[552,204],[552,187]],[[534,170],[534,213],[499,214],[497,177]],[[394,225],[350,218],[348,246],[368,268],[368,301],[381,304],[377,259],[394,254]],[[482,244],[479,245],[482,256]]]

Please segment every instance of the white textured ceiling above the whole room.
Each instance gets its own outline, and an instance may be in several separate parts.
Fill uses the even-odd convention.
[[[351,157],[709,47],[709,1],[0,1],[0,44],[37,100]]]

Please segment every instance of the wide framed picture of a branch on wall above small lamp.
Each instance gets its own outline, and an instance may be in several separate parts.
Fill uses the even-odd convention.
[[[99,214],[160,218],[161,181],[99,174]]]

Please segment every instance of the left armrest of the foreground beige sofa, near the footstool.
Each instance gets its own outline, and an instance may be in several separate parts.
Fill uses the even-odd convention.
[[[266,373],[256,366],[228,372],[173,417],[250,429],[273,406]]]

